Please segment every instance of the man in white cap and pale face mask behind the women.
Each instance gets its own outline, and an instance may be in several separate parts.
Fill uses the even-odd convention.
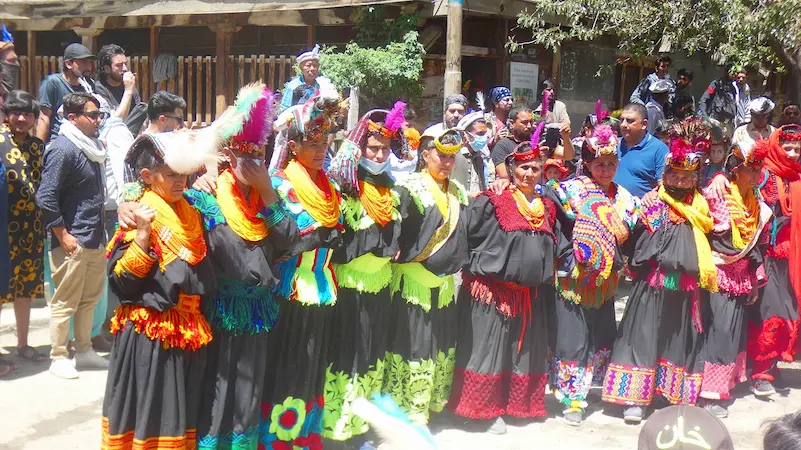
[[[492,133],[480,112],[464,116],[456,128],[463,133],[465,145],[456,154],[451,179],[462,183],[468,194],[475,197],[495,180],[495,166],[488,145]]]

